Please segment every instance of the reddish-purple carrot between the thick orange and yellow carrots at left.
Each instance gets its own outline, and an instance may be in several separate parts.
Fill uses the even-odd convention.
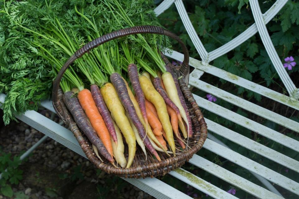
[[[99,110],[100,114],[102,115],[103,120],[105,121],[107,129],[108,129],[113,141],[117,145],[117,136],[116,136],[115,128],[113,125],[113,120],[112,120],[111,114],[108,111],[108,108],[104,102],[102,93],[96,84],[92,84],[90,86],[90,91],[93,96],[93,100],[97,105],[97,109]]]

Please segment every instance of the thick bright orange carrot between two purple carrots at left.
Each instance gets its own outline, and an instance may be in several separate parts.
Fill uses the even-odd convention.
[[[109,131],[97,109],[91,92],[88,89],[83,89],[78,93],[78,99],[97,135],[102,140],[109,154],[113,157]]]

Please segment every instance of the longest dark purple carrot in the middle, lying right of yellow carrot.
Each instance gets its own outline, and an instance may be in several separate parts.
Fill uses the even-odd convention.
[[[133,121],[138,134],[140,135],[141,139],[143,140],[144,145],[146,146],[147,149],[150,150],[154,156],[161,161],[157,151],[154,149],[153,145],[150,143],[150,139],[148,136],[145,136],[145,129],[140,122],[135,107],[133,105],[133,102],[130,99],[126,83],[124,80],[121,78],[121,75],[118,73],[112,73],[110,75],[110,80],[111,83],[113,84],[114,88],[116,89],[116,92],[118,94],[119,99],[121,100],[121,103],[125,107],[126,111],[129,113],[131,120]]]

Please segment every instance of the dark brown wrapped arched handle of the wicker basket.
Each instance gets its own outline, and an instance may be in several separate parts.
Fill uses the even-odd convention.
[[[116,39],[116,38],[120,38],[120,37],[124,37],[124,36],[128,36],[128,35],[140,34],[140,33],[151,33],[151,34],[157,34],[157,35],[165,35],[165,36],[169,36],[169,37],[177,40],[178,43],[181,45],[181,47],[183,49],[183,53],[184,53],[184,61],[183,61],[180,71],[184,72],[183,75],[185,77],[187,77],[187,75],[189,75],[187,73],[189,71],[189,53],[188,53],[187,47],[184,45],[183,41],[174,33],[170,32],[168,30],[164,30],[163,28],[161,28],[159,26],[134,26],[134,27],[125,28],[125,29],[121,29],[118,31],[108,33],[106,35],[100,36],[99,38],[97,38],[95,40],[88,42],[83,47],[81,47],[79,50],[77,50],[65,62],[65,64],[60,69],[59,73],[57,74],[56,79],[53,82],[52,100],[53,100],[53,105],[54,105],[55,111],[61,118],[63,118],[63,117],[57,110],[56,106],[59,106],[59,101],[58,101],[59,83],[60,83],[60,80],[61,80],[64,72],[66,71],[66,69],[68,69],[69,66],[76,59],[82,57],[83,54],[94,49],[95,47],[97,47],[99,45],[102,45],[102,44],[104,44],[110,40]],[[188,78],[185,78],[185,79],[188,79]]]

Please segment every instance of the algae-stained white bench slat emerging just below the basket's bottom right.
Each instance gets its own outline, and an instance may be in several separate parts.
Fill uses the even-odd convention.
[[[208,194],[209,196],[213,198],[236,198],[235,196],[223,191],[222,189],[212,185],[210,182],[207,182],[192,173],[182,169],[178,168],[174,171],[169,172],[169,175],[172,175],[173,177],[176,177],[183,182],[186,182],[187,184],[191,185],[192,187]]]

